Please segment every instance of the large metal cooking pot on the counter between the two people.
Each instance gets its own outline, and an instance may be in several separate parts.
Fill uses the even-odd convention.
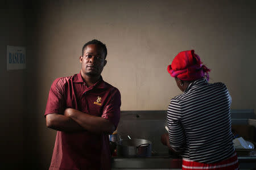
[[[121,139],[117,141],[117,156],[123,157],[149,157],[151,156],[152,142],[145,139]]]

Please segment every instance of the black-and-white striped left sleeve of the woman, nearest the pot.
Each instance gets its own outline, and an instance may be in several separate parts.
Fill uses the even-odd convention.
[[[181,126],[181,107],[179,101],[172,99],[167,110],[167,123],[170,146],[177,152],[183,150],[185,134]]]

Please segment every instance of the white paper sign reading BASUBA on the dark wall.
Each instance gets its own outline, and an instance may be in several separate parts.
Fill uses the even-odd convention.
[[[23,46],[7,45],[7,70],[26,69],[26,59],[26,49]]]

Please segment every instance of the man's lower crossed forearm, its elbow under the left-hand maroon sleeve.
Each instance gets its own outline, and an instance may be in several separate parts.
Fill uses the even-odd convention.
[[[84,131],[84,128],[77,124],[77,122],[73,121],[72,118],[57,113],[47,114],[46,125],[48,128],[59,131]]]

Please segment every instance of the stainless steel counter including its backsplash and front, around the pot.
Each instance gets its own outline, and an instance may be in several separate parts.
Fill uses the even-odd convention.
[[[249,124],[255,127],[253,109],[232,110],[232,124]],[[152,142],[152,151],[162,153],[151,158],[112,158],[112,169],[181,169],[182,160],[170,157],[168,149],[160,142],[166,133],[164,125],[166,111],[122,111],[118,125],[118,135],[147,139]],[[256,169],[256,156],[238,156],[240,169]]]

